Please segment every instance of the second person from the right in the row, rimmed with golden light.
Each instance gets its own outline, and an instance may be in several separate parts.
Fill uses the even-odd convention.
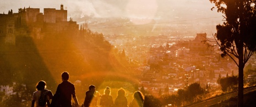
[[[123,88],[118,89],[117,98],[115,100],[116,107],[127,107],[126,91]]]

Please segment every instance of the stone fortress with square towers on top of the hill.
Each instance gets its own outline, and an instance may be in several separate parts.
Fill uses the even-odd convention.
[[[78,32],[79,25],[72,18],[67,19],[67,10],[44,8],[20,8],[18,13],[9,10],[8,14],[0,14],[0,42],[15,44],[17,36],[31,36],[42,39],[44,35],[52,32]]]

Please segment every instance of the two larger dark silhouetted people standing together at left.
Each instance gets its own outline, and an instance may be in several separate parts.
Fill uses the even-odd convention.
[[[75,87],[68,81],[69,74],[68,72],[62,72],[62,83],[57,87],[55,95],[52,95],[52,92],[46,88],[45,81],[39,81],[36,85],[37,91],[33,93],[31,107],[71,107],[71,99],[73,97],[75,101],[75,106],[79,106],[77,97],[75,96]],[[50,99],[52,102],[50,104]]]

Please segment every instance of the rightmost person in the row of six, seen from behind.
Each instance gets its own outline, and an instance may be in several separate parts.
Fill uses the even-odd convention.
[[[133,100],[129,107],[143,107],[144,95],[140,91],[133,93]]]

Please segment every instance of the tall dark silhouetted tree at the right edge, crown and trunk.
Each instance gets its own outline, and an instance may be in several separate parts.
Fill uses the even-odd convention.
[[[217,25],[215,37],[221,57],[228,55],[238,66],[238,106],[243,106],[243,68],[256,50],[256,1],[210,0],[217,12],[224,14],[224,23]],[[216,41],[217,41],[216,40]],[[238,61],[236,60],[238,59]]]

